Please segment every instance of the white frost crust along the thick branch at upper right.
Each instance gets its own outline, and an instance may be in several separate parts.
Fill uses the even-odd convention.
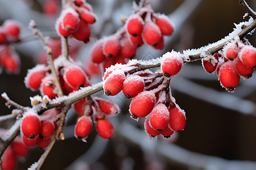
[[[221,39],[217,42],[214,42],[212,44],[208,44],[206,46],[202,46],[201,48],[199,49],[187,49],[187,50],[183,50],[183,54],[184,54],[184,60],[186,61],[186,59],[189,57],[189,56],[193,56],[195,54],[199,54],[201,52],[204,52],[204,51],[208,51],[209,49],[212,49],[214,48],[214,46],[218,46],[218,45],[221,45],[223,44],[224,42],[226,41],[230,41],[232,39],[236,39],[238,33],[240,33],[242,31],[242,28],[241,26],[242,25],[250,25],[251,23],[253,22],[253,18],[250,18],[247,22],[241,22],[239,24],[234,24],[236,28],[234,28],[234,31],[233,32],[230,32],[228,36],[225,36],[224,39]],[[255,30],[255,29],[254,29]],[[254,32],[251,31],[252,32]],[[249,34],[251,34],[249,33]],[[187,57],[187,58],[186,58]]]

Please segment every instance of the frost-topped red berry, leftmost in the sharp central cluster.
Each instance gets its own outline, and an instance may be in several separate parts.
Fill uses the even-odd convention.
[[[104,91],[107,96],[115,96],[123,88],[125,74],[112,74],[104,82]]]

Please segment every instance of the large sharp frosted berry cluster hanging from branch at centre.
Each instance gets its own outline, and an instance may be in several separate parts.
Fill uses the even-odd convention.
[[[163,135],[169,138],[174,131],[185,127],[185,112],[175,103],[170,92],[171,76],[179,73],[183,65],[180,53],[168,52],[162,57],[162,70],[153,73],[141,70],[141,63],[115,65],[104,74],[105,95],[114,96],[123,91],[133,98],[129,112],[135,120],[146,117],[144,129],[150,137]]]

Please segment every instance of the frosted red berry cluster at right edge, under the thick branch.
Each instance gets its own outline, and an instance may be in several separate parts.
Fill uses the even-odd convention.
[[[213,56],[204,57],[202,63],[209,73],[216,70],[221,85],[232,92],[238,86],[240,76],[246,80],[253,75],[256,48],[248,41],[233,40]]]

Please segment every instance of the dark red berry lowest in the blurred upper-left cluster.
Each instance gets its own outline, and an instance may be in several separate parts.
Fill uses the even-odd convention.
[[[84,22],[84,20],[80,19],[79,28],[72,33],[72,36],[79,41],[84,41],[85,43],[88,42],[90,38],[89,25]]]

